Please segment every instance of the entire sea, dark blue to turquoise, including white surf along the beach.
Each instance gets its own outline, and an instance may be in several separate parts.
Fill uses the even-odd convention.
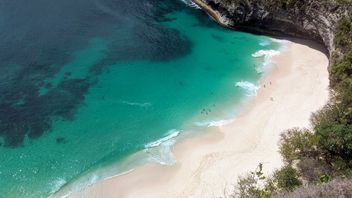
[[[255,96],[279,47],[190,1],[2,0],[0,196],[172,166],[178,138]]]

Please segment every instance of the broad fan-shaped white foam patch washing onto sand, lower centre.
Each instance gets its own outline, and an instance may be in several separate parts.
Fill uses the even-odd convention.
[[[176,137],[181,133],[176,129],[170,130],[167,135],[157,141],[145,145],[144,151],[150,158],[161,165],[173,165],[176,160],[172,154],[172,146],[176,143]]]

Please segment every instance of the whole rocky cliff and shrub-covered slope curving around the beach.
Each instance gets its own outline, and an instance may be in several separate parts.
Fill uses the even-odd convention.
[[[284,133],[280,152],[286,165],[274,179],[260,181],[259,188],[244,179],[239,196],[351,197],[345,186],[352,176],[352,0],[193,1],[223,26],[311,39],[330,53],[330,101],[311,117],[311,130]]]

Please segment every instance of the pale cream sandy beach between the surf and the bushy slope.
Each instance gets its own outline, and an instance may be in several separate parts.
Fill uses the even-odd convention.
[[[175,166],[147,164],[71,197],[219,197],[260,162],[265,172],[272,172],[282,165],[280,133],[309,127],[311,113],[327,102],[327,66],[322,52],[288,44],[234,122],[174,147]]]

